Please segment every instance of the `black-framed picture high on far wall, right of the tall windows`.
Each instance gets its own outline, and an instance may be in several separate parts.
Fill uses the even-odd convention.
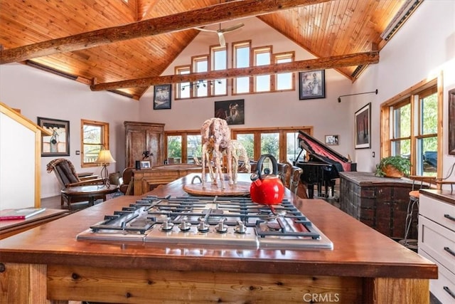
[[[299,72],[299,99],[326,98],[326,70]]]

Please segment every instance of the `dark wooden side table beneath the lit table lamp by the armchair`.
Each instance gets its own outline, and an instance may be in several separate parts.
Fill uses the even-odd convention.
[[[106,200],[107,194],[112,194],[117,192],[118,186],[116,184],[111,184],[109,186],[105,185],[87,185],[87,186],[78,186],[78,187],[68,187],[61,191],[62,195],[62,204],[63,201],[67,201],[68,209],[71,209],[71,202],[73,199],[75,201],[87,200],[89,206],[93,206],[97,199]]]

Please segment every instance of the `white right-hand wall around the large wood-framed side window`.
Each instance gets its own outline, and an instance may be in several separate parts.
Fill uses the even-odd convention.
[[[372,103],[372,147],[356,151],[359,171],[373,171],[380,160],[380,104],[422,80],[434,78],[440,71],[444,75],[445,175],[455,162],[454,156],[448,154],[447,135],[448,91],[455,88],[455,1],[423,1],[382,49],[380,63],[370,65],[353,85],[353,92],[376,88],[379,91],[378,95],[360,95],[349,102],[350,112]]]

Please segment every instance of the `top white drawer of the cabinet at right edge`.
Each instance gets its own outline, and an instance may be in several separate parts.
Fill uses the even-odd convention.
[[[419,214],[455,231],[455,205],[420,194]]]

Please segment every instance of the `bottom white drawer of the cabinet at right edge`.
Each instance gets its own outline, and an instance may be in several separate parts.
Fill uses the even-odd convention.
[[[429,281],[429,290],[441,303],[455,303],[455,274],[419,248],[419,254],[438,266],[438,279]]]

